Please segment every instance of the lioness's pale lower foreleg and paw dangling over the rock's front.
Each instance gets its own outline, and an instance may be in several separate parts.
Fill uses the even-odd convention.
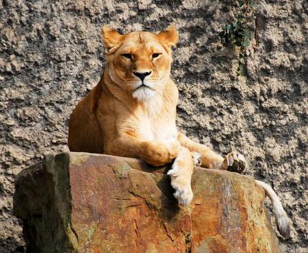
[[[181,147],[179,155],[175,158],[172,168],[168,171],[171,177],[171,186],[175,189],[175,197],[179,204],[187,206],[192,202],[192,171],[194,161],[192,153],[185,147]]]

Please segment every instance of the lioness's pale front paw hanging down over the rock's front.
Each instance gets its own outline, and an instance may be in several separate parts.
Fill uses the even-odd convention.
[[[185,168],[181,168],[181,163],[177,162],[177,160],[175,160],[172,169],[167,174],[171,176],[171,186],[175,189],[173,195],[179,204],[188,206],[192,202],[193,197],[192,187],[190,186],[190,174],[185,173]]]

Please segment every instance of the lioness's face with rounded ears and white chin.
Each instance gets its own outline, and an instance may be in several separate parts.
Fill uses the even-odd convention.
[[[103,27],[109,75],[134,99],[146,101],[161,93],[170,75],[170,46],[177,32],[170,27],[159,34],[131,32],[120,35]]]

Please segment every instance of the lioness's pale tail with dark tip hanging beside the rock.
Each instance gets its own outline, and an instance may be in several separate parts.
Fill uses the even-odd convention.
[[[255,182],[261,186],[264,191],[266,192],[266,195],[270,198],[270,201],[272,202],[272,210],[274,212],[274,215],[276,217],[276,223],[277,228],[281,235],[287,239],[290,237],[290,221],[287,217],[287,214],[285,213],[285,210],[283,210],[283,206],[279,200],[279,197],[277,194],[273,191],[272,187],[270,187],[268,184],[261,182],[259,180],[255,180]]]

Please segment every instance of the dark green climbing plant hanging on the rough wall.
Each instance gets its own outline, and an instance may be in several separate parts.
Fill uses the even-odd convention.
[[[233,23],[227,23],[219,33],[223,45],[239,47],[238,75],[243,75],[244,64],[247,57],[246,48],[250,45],[254,34],[255,2],[251,0],[238,0],[240,12]]]

